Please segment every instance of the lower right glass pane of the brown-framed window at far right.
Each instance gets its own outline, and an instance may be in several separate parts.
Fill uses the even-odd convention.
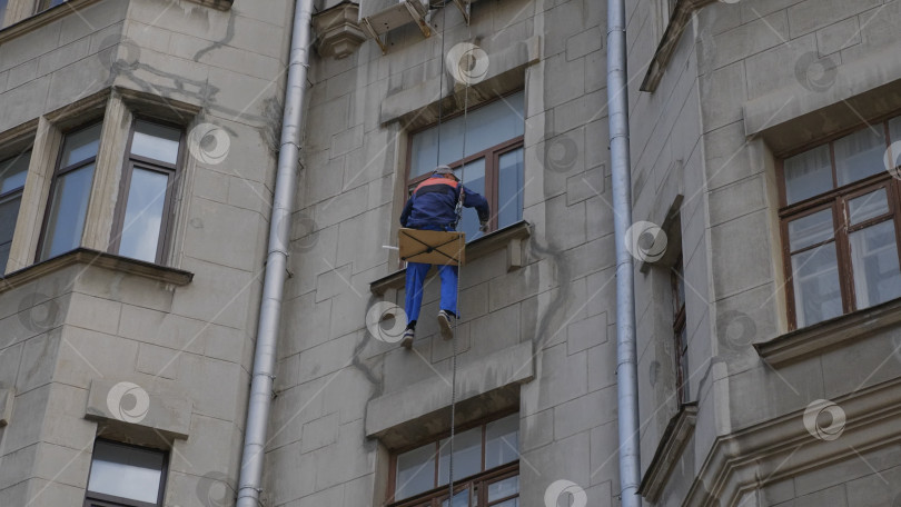
[[[888,220],[848,235],[858,308],[901,297],[901,268],[894,222]]]

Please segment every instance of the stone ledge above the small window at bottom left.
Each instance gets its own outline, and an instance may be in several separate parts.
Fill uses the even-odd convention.
[[[85,418],[103,422],[106,435],[128,440],[188,438],[191,401],[182,396],[145,389],[129,381],[91,380]]]

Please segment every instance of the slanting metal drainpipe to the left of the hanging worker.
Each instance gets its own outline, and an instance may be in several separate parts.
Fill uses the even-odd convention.
[[[257,348],[247,407],[237,507],[259,507],[263,461],[266,450],[266,429],[273,399],[278,324],[281,317],[281,297],[287,277],[290,217],[294,208],[297,167],[300,152],[300,125],[304,92],[309,64],[310,21],[313,0],[297,0],[291,31],[290,64],[285,90],[285,111],[281,118],[281,141],[278,170],[269,221],[269,247],[259,306]]]

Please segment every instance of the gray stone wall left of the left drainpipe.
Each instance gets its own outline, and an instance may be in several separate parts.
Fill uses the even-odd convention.
[[[107,107],[125,111],[102,140],[118,153],[117,179],[103,183],[115,189],[102,195],[110,209],[132,113],[181,118],[189,132],[215,126],[228,148],[186,149],[167,264],[192,272],[190,284],[80,264],[0,292],[0,389],[14,392],[0,428],[0,505],[82,505],[98,433],[169,448],[166,505],[234,500],[293,7],[107,0],[0,42],[0,132],[39,117],[55,128],[50,112],[78,125],[65,108],[111,87],[111,100],[138,97]],[[179,117],[185,108],[199,112]],[[39,178],[27,186],[40,189]],[[43,210],[29,213],[17,237],[37,237]],[[17,269],[33,262],[22,251]],[[149,411],[123,424],[102,404],[89,409],[99,381],[136,384]]]

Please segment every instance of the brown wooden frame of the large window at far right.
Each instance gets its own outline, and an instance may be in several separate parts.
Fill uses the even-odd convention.
[[[854,289],[854,268],[851,264],[851,247],[849,243],[849,233],[857,230],[865,229],[868,227],[881,223],[883,221],[892,220],[894,222],[895,232],[895,249],[899,255],[899,264],[901,265],[901,180],[893,178],[888,170],[881,170],[875,175],[868,176],[850,183],[838,186],[838,170],[835,163],[835,149],[834,142],[845,136],[854,133],[863,128],[881,128],[884,133],[885,149],[891,146],[891,132],[889,130],[889,121],[898,117],[898,113],[892,113],[880,121],[867,123],[867,126],[858,126],[852,129],[843,130],[830,137],[825,142],[816,142],[803,147],[799,150],[793,150],[785,156],[779,158],[776,163],[776,180],[779,187],[779,221],[780,221],[780,239],[782,241],[782,264],[785,276],[785,298],[788,304],[789,330],[798,329],[798,308],[795,305],[794,295],[794,280],[792,272],[792,255],[798,255],[808,250],[812,250],[823,245],[834,242],[835,255],[838,262],[839,274],[839,292],[842,299],[842,314],[848,315],[857,311],[857,294]],[[795,155],[804,153],[809,150],[820,146],[829,146],[829,158],[832,170],[832,189],[819,193],[813,197],[802,199],[792,205],[788,205],[788,190],[785,183],[784,161]],[[897,159],[897,153],[895,159]],[[855,197],[867,195],[875,191],[879,188],[884,188],[887,192],[887,200],[889,211],[864,220],[860,223],[850,225],[850,217],[848,215],[848,201]],[[830,209],[832,211],[832,226],[833,236],[831,239],[820,241],[813,245],[792,250],[789,241],[789,223],[805,216]],[[812,326],[818,322],[806,324]]]

